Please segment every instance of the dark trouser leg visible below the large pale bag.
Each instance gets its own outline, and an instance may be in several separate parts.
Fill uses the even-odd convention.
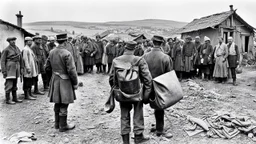
[[[164,110],[155,110],[156,132],[162,133],[164,131]]]

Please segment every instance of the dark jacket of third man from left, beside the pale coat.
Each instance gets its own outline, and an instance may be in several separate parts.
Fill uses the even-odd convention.
[[[35,43],[31,46],[31,49],[33,50],[33,52],[36,56],[36,61],[38,64],[38,72],[45,73],[44,64],[45,64],[47,57],[45,55],[44,49],[42,48],[41,45],[37,45]]]

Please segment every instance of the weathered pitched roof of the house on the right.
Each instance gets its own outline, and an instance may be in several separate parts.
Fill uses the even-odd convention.
[[[239,15],[237,15],[236,10],[234,10],[234,11],[226,11],[222,13],[209,15],[206,17],[202,17],[200,19],[194,19],[192,22],[188,23],[186,26],[181,28],[178,32],[187,33],[187,32],[198,31],[206,28],[214,28],[215,26],[224,22],[232,14],[234,14],[241,22],[245,23],[249,28],[254,29],[252,26],[246,23]]]

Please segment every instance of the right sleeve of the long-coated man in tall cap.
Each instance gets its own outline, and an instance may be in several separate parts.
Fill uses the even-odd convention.
[[[74,62],[74,59],[73,59],[73,57],[70,53],[65,56],[65,62],[66,62],[66,68],[67,68],[67,72],[68,72],[68,75],[70,77],[71,83],[73,85],[77,85],[78,84],[78,78],[77,78],[75,62]]]

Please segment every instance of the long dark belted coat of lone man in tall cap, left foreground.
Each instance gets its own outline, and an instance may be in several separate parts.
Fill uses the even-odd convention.
[[[51,50],[45,70],[52,71],[48,96],[53,103],[73,103],[76,99],[74,87],[78,84],[75,62],[71,53],[63,46]]]

